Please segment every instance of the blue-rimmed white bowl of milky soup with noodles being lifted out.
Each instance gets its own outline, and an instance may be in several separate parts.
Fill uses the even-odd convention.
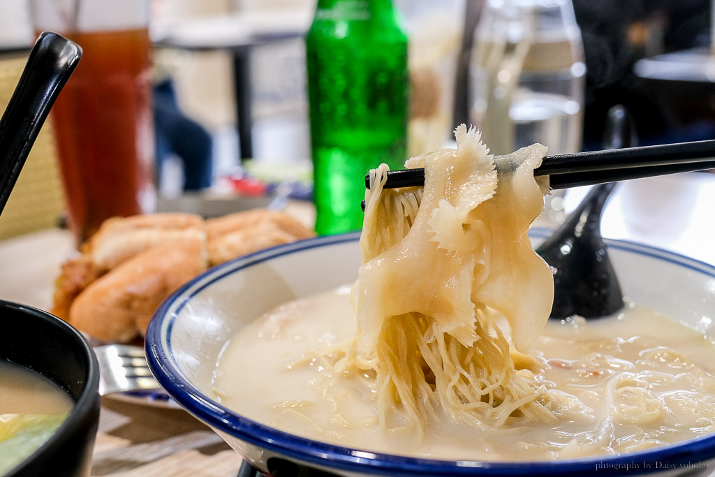
[[[546,149],[493,157],[456,135],[406,163],[423,188],[371,174],[361,233],[169,297],[147,331],[167,393],[265,475],[709,473],[715,267],[608,241],[623,310],[548,320],[548,231],[531,229]]]

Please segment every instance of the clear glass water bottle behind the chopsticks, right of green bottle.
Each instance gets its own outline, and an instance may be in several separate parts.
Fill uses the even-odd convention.
[[[487,0],[474,36],[470,121],[491,152],[581,150],[586,66],[571,0]],[[546,197],[546,222],[563,222],[562,199]]]

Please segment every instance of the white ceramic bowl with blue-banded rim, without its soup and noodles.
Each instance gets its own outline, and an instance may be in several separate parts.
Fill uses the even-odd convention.
[[[533,230],[535,241],[546,234]],[[276,305],[354,281],[358,234],[319,237],[258,252],[209,270],[157,311],[147,333],[149,366],[167,393],[215,429],[257,469],[283,476],[573,476],[708,473],[715,436],[629,456],[558,462],[436,461],[332,446],[239,415],[211,398],[211,379],[227,338]],[[715,267],[644,245],[607,241],[625,295],[703,333],[715,335]],[[260,357],[257,357],[260,358]],[[634,466],[638,468],[633,468]]]

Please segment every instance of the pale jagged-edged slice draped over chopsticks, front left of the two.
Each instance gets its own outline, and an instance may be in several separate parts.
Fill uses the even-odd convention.
[[[479,239],[485,230],[471,217],[472,211],[493,196],[497,174],[493,156],[480,141],[476,129],[460,126],[457,149],[445,149],[408,160],[408,167],[425,167],[425,187],[420,210],[405,237],[359,271],[358,325],[363,331],[358,352],[375,356],[375,346],[386,318],[421,313],[435,319],[440,330],[470,346],[477,339],[474,303],[470,298],[474,270],[488,260],[483,244],[464,246],[468,234]],[[442,208],[444,207],[444,208]],[[385,219],[385,217],[383,217]],[[380,217],[368,224],[380,226]],[[438,227],[438,228],[435,228]],[[474,232],[474,231],[475,232]],[[363,234],[379,230],[363,230]],[[464,250],[466,249],[466,250]]]

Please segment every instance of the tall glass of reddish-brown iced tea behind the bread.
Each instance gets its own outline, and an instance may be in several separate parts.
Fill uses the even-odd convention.
[[[154,208],[149,0],[31,0],[37,31],[82,46],[51,111],[77,244],[109,217]]]

